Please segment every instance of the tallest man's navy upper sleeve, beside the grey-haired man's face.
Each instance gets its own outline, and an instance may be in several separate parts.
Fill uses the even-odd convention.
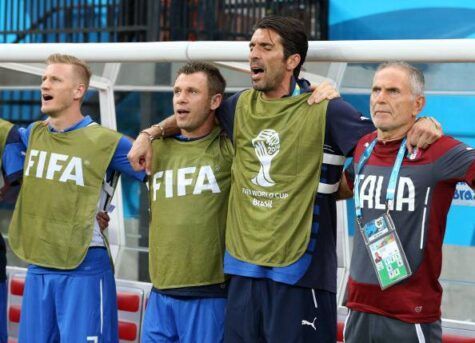
[[[353,153],[361,137],[376,130],[369,118],[361,115],[342,98],[328,102],[326,127],[326,134],[329,135],[326,138],[345,156]]]

